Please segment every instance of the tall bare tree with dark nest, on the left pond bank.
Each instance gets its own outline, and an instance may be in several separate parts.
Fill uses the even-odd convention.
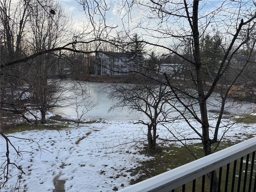
[[[28,43],[31,52],[36,53],[60,46],[70,33],[72,26],[70,17],[62,6],[53,0],[29,2],[30,26],[32,38]],[[50,11],[54,10],[54,11]],[[59,96],[59,80],[54,80],[58,71],[59,52],[44,54],[29,62],[27,82],[30,86],[31,102],[41,114],[41,122],[45,122],[46,111],[52,108]]]

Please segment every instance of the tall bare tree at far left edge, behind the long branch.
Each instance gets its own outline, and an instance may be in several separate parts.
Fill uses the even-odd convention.
[[[26,46],[23,40],[28,32],[26,26],[29,22],[26,2],[1,1],[0,22],[0,56],[1,64],[3,64],[24,55],[23,50],[26,49]],[[1,109],[11,108],[26,118],[24,116],[24,112],[26,112],[24,104],[26,88],[23,86],[23,79],[17,78],[22,69],[22,65],[18,64],[1,70]]]

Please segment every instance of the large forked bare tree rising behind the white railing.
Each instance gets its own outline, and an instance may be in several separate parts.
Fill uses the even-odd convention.
[[[102,4],[106,4],[106,2],[102,1]],[[148,47],[157,47],[167,54],[174,54],[186,65],[187,76],[185,80],[179,83],[173,82],[172,78],[165,74],[164,81],[161,82],[168,85],[176,96],[176,100],[182,106],[182,110],[177,108],[178,112],[182,113],[186,110],[190,113],[190,118],[192,116],[199,123],[198,127],[188,125],[201,138],[206,156],[213,152],[212,144],[219,142],[218,133],[228,91],[236,84],[248,63],[252,62],[251,55],[255,50],[254,28],[256,25],[255,1],[246,3],[226,1],[218,6],[217,4],[210,6],[209,10],[204,11],[203,7],[207,5],[210,6],[207,2],[198,0],[178,2],[131,0],[125,1],[120,8],[120,13],[122,13],[120,19],[124,24],[122,30],[126,30],[127,34],[130,34],[132,30],[140,30],[143,39],[148,39],[148,41],[140,42],[145,43]],[[230,10],[230,7],[232,7],[232,10]],[[108,11],[102,9],[99,4],[94,6],[92,10]],[[134,25],[132,25],[133,11],[136,11],[136,15],[139,11],[142,12],[141,20],[136,21]],[[88,13],[87,10],[85,12]],[[126,28],[126,23],[131,25]],[[134,26],[134,28],[130,26]],[[200,40],[207,35],[212,36],[212,31],[224,40],[219,42],[219,46],[223,48],[223,54],[218,55],[218,67],[214,69],[213,74],[211,73],[212,78],[207,78],[207,84],[205,84]],[[123,44],[118,40],[114,43],[120,47]],[[248,50],[247,60],[240,66],[239,70],[236,70],[237,72],[230,78],[229,84],[225,84],[225,89],[221,90],[220,112],[216,125],[211,128],[208,116],[209,100],[215,92],[220,92],[219,83],[224,78],[224,74],[227,75],[231,71],[234,55],[242,50],[245,45],[248,47],[246,49]],[[210,55],[207,55],[207,57],[210,58]],[[156,79],[156,81],[159,80]],[[180,94],[188,98],[187,102],[180,98]],[[196,109],[197,107],[199,111]],[[183,117],[187,118],[185,115]],[[187,120],[187,122],[189,121]],[[216,191],[217,184],[218,181],[215,178],[214,191]]]

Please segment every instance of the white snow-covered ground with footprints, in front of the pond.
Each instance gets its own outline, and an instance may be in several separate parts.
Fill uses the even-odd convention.
[[[223,125],[229,120],[224,120]],[[210,124],[216,123],[212,115]],[[197,125],[191,121],[191,124]],[[186,122],[176,120],[168,126],[179,138],[198,138],[190,130]],[[26,192],[46,192],[54,190],[54,178],[65,180],[65,190],[68,192],[110,192],[129,185],[130,180],[137,178],[131,176],[128,170],[140,166],[140,162],[149,157],[139,154],[144,146],[146,135],[145,127],[134,124],[134,121],[104,121],[93,124],[71,124],[70,128],[56,130],[31,130],[8,134],[10,141],[22,152],[17,157],[15,151],[9,146],[10,161],[16,162],[26,174],[18,186],[24,187]],[[200,125],[198,125],[200,130]],[[256,124],[234,124],[229,130],[220,129],[220,136],[225,133],[226,140],[234,141],[239,135],[244,140],[246,134],[256,135]],[[158,134],[162,138],[173,139],[164,126],[159,126]],[[29,138],[22,140],[20,138]],[[32,140],[34,142],[32,142]],[[0,140],[1,165],[6,160],[6,143]],[[3,167],[1,167],[2,174]],[[14,191],[17,185],[18,170],[10,166],[12,178],[1,192]],[[3,174],[0,182],[4,181]],[[20,190],[20,191],[23,191]]]

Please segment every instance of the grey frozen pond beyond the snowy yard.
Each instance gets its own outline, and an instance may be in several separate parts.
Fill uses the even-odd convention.
[[[68,81],[66,82],[67,83],[65,84],[65,86],[68,84]],[[101,89],[102,86],[106,84],[98,82],[80,82],[80,84],[84,85],[87,88],[86,92],[89,93],[91,97],[94,98],[94,100],[98,103],[98,105],[94,107],[93,110],[90,110],[89,112],[84,114],[82,119],[138,120],[144,117],[138,112],[129,113],[128,110],[123,110],[122,112],[108,112],[110,106],[113,105],[114,102],[109,100],[108,95]],[[211,97],[208,100],[208,113],[216,113],[219,111],[219,99],[219,97]],[[65,102],[62,102],[62,107],[54,108],[51,111],[61,116],[77,118],[75,103],[75,100],[72,100],[69,104],[65,104]],[[82,106],[79,106],[79,108],[80,110],[82,110]],[[230,100],[226,102],[225,112],[238,114],[241,112],[250,112],[253,108],[255,108],[255,104],[251,104],[248,102],[234,102]],[[200,114],[199,111],[198,114]],[[178,115],[178,112],[172,112],[172,115],[176,116]]]

